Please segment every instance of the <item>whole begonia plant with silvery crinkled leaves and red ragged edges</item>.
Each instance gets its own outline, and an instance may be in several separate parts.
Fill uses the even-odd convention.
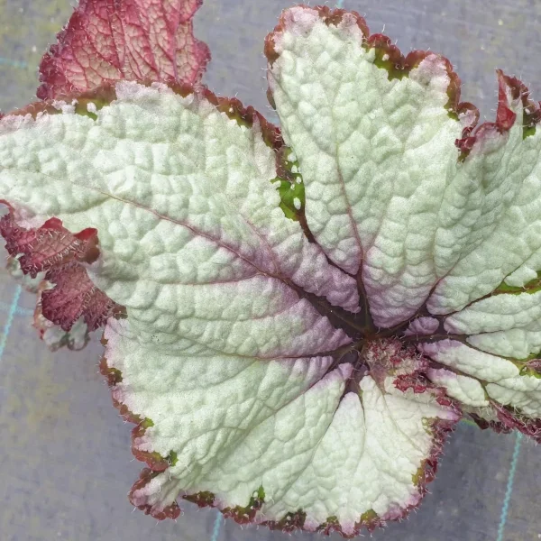
[[[0,120],[0,233],[36,326],[100,368],[147,464],[240,523],[406,516],[461,417],[541,441],[541,107],[496,120],[428,51],[298,5],[265,41],[280,129],[201,83],[200,0],[81,0]]]

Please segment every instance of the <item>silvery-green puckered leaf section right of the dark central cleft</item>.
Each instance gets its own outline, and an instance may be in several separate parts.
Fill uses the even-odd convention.
[[[326,9],[285,12],[267,54],[307,225],[360,277],[374,323],[405,329],[468,408],[536,425],[541,135],[527,88],[499,71],[496,122],[476,127],[448,60],[400,59],[356,15]]]

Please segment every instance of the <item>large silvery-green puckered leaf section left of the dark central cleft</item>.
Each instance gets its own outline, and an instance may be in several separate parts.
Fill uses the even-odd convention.
[[[390,361],[383,346],[374,350],[378,384],[339,362],[362,335],[358,284],[284,214],[280,137],[235,107],[124,83],[96,120],[69,109],[6,117],[0,186],[12,222],[32,228],[55,215],[69,231],[100,232],[87,271],[128,316],[109,320],[102,370],[115,403],[139,422],[134,453],[163,472],[138,482],[135,505],[175,516],[179,493],[212,493],[213,505],[240,519],[261,485],[253,520],[280,525],[302,509],[300,526],[337,517],[353,533],[417,504],[458,415],[426,384],[393,384],[389,374],[417,378],[423,365],[401,360],[399,346]],[[31,160],[19,151],[28,145]],[[38,245],[38,261],[48,260]],[[72,296],[60,289],[57,298],[71,319]],[[343,463],[338,436],[357,431]],[[342,497],[325,496],[330,463],[336,480],[358,480],[353,495],[337,485]]]

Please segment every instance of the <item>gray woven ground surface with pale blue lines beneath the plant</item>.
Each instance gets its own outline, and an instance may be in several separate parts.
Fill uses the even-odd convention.
[[[282,0],[206,0],[197,16],[197,35],[213,51],[206,75],[213,90],[237,94],[268,112],[262,40],[287,5]],[[403,50],[443,52],[463,79],[463,97],[489,118],[497,67],[523,78],[541,98],[539,1],[345,0],[345,5],[365,14],[372,32],[385,23],[385,32]],[[69,0],[0,0],[1,108],[32,100],[41,51],[70,11]],[[176,523],[159,524],[132,513],[126,492],[141,464],[131,462],[131,426],[117,417],[97,373],[101,346],[95,339],[81,353],[49,353],[30,324],[31,295],[23,293],[10,316],[16,293],[0,274],[0,541],[210,541],[214,510],[185,504],[186,513]],[[516,468],[511,467],[513,454]],[[540,466],[541,450],[534,445],[461,425],[421,509],[374,537],[539,539]],[[289,538],[234,523],[216,531],[214,541]],[[293,536],[301,537],[320,538]]]

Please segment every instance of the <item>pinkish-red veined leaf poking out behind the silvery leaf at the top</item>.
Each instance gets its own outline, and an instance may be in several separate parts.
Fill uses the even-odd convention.
[[[121,79],[197,83],[210,53],[192,33],[201,0],[80,0],[41,60],[41,99]]]

